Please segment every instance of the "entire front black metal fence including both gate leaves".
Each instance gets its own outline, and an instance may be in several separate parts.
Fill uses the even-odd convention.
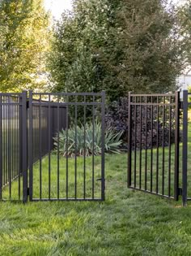
[[[191,200],[189,97],[188,91],[183,102],[178,92],[129,93],[129,188],[175,200],[182,195],[184,205]],[[0,199],[104,200],[104,104],[104,92],[0,93]]]

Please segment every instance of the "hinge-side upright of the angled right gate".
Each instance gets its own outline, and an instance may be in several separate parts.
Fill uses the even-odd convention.
[[[180,92],[176,92],[176,124],[175,124],[175,176],[174,197],[179,197],[179,156],[180,156]]]

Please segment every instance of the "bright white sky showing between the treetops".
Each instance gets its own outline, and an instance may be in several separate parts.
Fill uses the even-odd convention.
[[[55,19],[61,18],[62,12],[66,9],[71,10],[72,0],[44,0],[45,7],[47,10],[50,10]],[[168,0],[169,2],[171,0]],[[180,3],[184,0],[172,0],[174,3]]]

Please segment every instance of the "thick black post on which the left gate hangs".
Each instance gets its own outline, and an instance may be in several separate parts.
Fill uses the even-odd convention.
[[[22,118],[22,128],[20,132],[20,136],[22,137],[22,154],[21,154],[21,161],[22,161],[22,172],[23,172],[23,202],[28,202],[28,131],[27,131],[27,92],[22,92],[21,97],[22,102],[22,111],[21,116]]]

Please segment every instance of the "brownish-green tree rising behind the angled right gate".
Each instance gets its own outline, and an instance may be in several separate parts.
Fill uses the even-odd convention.
[[[160,0],[123,2],[119,41],[124,57],[117,67],[121,86],[134,92],[175,90],[185,63],[176,8]]]

